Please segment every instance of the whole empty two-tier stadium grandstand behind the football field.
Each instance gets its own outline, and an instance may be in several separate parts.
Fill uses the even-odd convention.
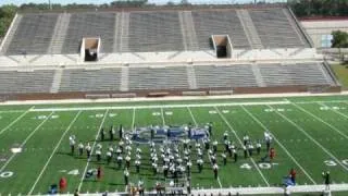
[[[339,91],[286,7],[17,13],[5,99]]]

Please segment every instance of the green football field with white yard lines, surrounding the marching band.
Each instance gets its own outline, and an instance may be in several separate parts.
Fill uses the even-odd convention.
[[[208,156],[203,172],[198,173],[192,156],[194,188],[279,186],[290,168],[296,169],[299,185],[322,184],[322,171],[330,171],[335,184],[348,183],[348,96],[0,106],[0,195],[46,194],[62,176],[70,193],[76,188],[80,193],[124,192],[124,170],[95,157],[88,161],[85,155],[72,156],[69,136],[92,146],[101,143],[104,158],[105,148],[119,138],[100,142],[101,127],[109,131],[122,124],[129,131],[151,124],[203,126],[208,122],[213,123],[211,140],[220,143],[219,177],[214,179]],[[262,144],[261,155],[244,158],[238,150],[238,161],[228,158],[223,166],[225,131],[240,147],[245,134],[254,142],[263,138],[265,130],[274,138],[274,162],[260,162],[266,154]],[[151,189],[156,182],[163,182],[163,174],[153,175],[149,146],[140,147],[144,166],[140,174],[132,166],[130,182],[141,177]],[[84,179],[86,171],[99,166],[104,173],[101,181]]]

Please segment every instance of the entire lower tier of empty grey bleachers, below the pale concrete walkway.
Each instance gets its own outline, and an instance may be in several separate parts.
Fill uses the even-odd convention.
[[[251,64],[195,65],[197,88],[258,87],[257,79],[265,86],[327,85],[335,81],[322,63],[259,64],[257,77]],[[186,66],[127,68],[128,76],[122,77],[122,68],[100,70],[65,69],[62,72],[59,93],[63,91],[120,91],[122,78],[127,90],[189,89]],[[1,71],[0,94],[50,93],[54,70],[34,72]]]

